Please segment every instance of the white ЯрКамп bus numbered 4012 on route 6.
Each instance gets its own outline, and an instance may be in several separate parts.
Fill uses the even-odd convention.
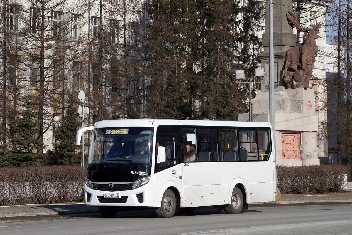
[[[105,120],[78,130],[77,145],[88,130],[86,205],[98,206],[103,217],[155,208],[170,218],[200,206],[238,214],[248,203],[275,200],[270,123]]]

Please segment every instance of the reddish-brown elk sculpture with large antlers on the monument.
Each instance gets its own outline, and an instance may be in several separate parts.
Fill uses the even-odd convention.
[[[283,80],[288,88],[312,88],[309,86],[309,79],[313,75],[315,56],[318,54],[318,47],[315,39],[319,38],[319,28],[323,23],[312,25],[311,29],[300,25],[301,12],[288,12],[287,19],[293,27],[302,30],[303,42],[290,48],[285,56],[285,69]]]

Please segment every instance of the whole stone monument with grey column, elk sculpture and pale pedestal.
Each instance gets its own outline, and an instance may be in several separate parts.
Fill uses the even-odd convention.
[[[319,37],[321,23],[313,25],[312,29],[301,27],[305,32],[304,42],[296,46],[293,27],[300,27],[299,13],[292,12],[289,7],[292,0],[276,0],[276,3],[273,5],[276,162],[286,166],[319,165],[316,151],[318,115],[309,79],[317,52],[315,37]],[[266,3],[267,12],[268,5]],[[261,92],[252,100],[254,122],[270,121],[269,14],[266,14],[263,47],[259,58],[265,76],[261,81]],[[240,114],[239,121],[249,121],[249,113]]]

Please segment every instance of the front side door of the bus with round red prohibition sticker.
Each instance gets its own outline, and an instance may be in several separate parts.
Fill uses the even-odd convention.
[[[160,194],[163,190],[164,185],[175,186],[182,195],[182,165],[181,158],[177,157],[180,155],[177,152],[177,138],[176,134],[162,134],[156,137],[156,149],[158,146],[164,146],[166,151],[166,161],[161,163],[155,163],[154,169],[154,201],[159,200]],[[180,141],[178,141],[180,142]],[[157,159],[158,151],[156,150],[155,159]],[[155,161],[156,162],[156,161]]]

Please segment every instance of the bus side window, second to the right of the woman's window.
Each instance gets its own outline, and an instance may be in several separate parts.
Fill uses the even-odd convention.
[[[237,129],[236,128],[219,128],[219,160],[220,161],[238,161],[237,146]]]

